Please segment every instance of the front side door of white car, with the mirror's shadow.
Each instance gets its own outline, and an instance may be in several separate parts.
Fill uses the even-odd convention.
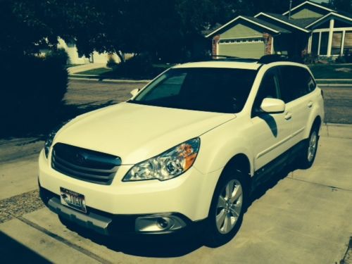
[[[289,149],[291,119],[287,113],[265,113],[260,104],[265,98],[280,99],[277,68],[270,68],[260,83],[251,114],[255,170],[277,158]]]

